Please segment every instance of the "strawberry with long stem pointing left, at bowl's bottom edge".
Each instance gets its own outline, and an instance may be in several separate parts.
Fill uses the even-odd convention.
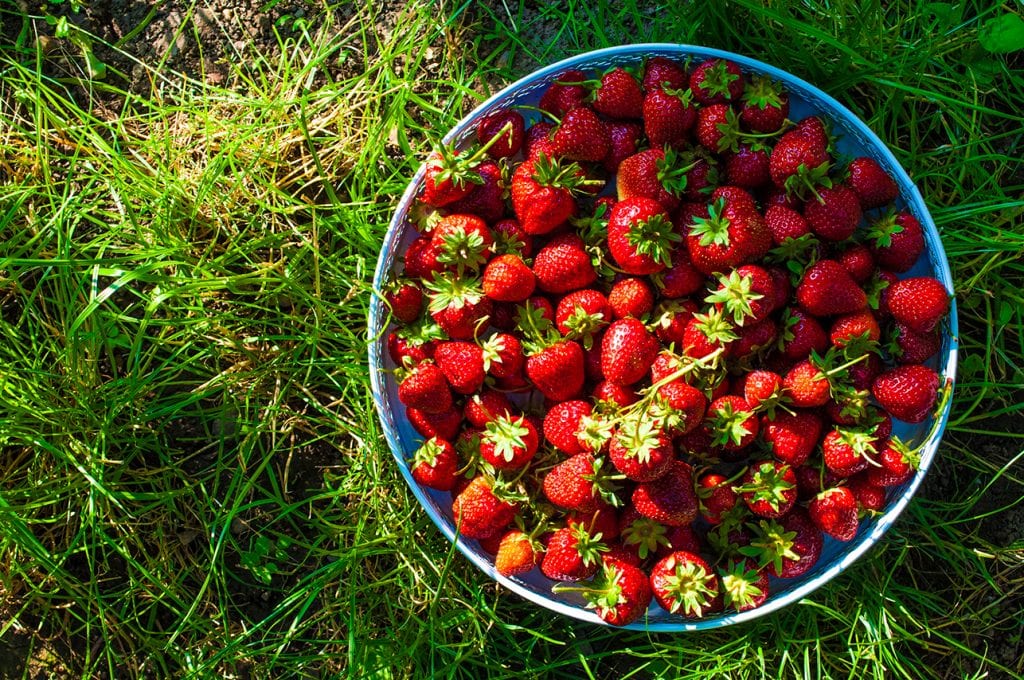
[[[597,577],[584,587],[554,586],[553,592],[580,592],[587,607],[595,609],[601,621],[626,626],[647,611],[650,605],[650,582],[639,567],[605,552]]]

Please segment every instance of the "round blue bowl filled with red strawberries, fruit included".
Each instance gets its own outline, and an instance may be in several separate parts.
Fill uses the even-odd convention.
[[[387,442],[442,534],[577,619],[731,625],[877,543],[949,414],[952,278],[893,154],[755,59],[644,44],[510,85],[402,196]]]

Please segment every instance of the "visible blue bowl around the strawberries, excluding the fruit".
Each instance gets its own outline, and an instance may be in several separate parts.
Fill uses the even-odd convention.
[[[813,85],[784,71],[739,54],[708,47],[666,43],[626,45],[580,54],[541,69],[509,85],[461,120],[444,136],[444,140],[454,142],[457,146],[468,145],[473,141],[476,124],[483,116],[514,105],[536,105],[545,88],[567,69],[579,69],[585,73],[603,71],[614,66],[639,65],[644,58],[656,55],[680,61],[686,58],[731,59],[748,74],[763,74],[782,83],[790,93],[791,119],[800,120],[810,115],[821,115],[827,119],[833,124],[835,134],[839,136],[837,142],[839,154],[850,158],[869,156],[878,161],[899,184],[900,196],[897,205],[909,210],[924,227],[926,253],[906,275],[936,277],[950,294],[952,293],[952,275],[935,222],[913,181],[878,135],[848,109]],[[401,254],[415,238],[415,229],[409,225],[407,216],[415,197],[421,189],[423,175],[424,169],[421,167],[401,197],[388,227],[374,274],[374,288],[378,292],[382,290],[389,273],[398,268]],[[505,578],[495,570],[490,556],[480,549],[476,541],[456,537],[451,495],[420,486],[410,473],[408,460],[419,445],[421,437],[406,418],[404,407],[398,401],[395,381],[388,372],[394,368],[385,346],[388,312],[386,305],[377,295],[371,302],[369,323],[370,337],[374,338],[370,345],[370,379],[384,436],[410,488],[437,527],[450,541],[455,542],[459,551],[471,562],[502,586],[552,611],[582,621],[603,624],[592,609],[585,608],[584,601],[579,596],[552,593],[553,582],[546,579],[540,569],[534,569],[522,578]],[[943,384],[948,385],[950,389],[956,372],[956,345],[954,302],[943,329],[942,348],[932,359],[933,368],[941,375]],[[890,490],[885,511],[862,520],[853,541],[841,543],[826,538],[819,561],[807,573],[797,579],[773,580],[770,596],[762,606],[739,613],[722,613],[693,621],[683,620],[656,604],[651,604],[646,617],[626,628],[676,632],[730,626],[780,609],[831,581],[877,543],[910,502],[935,457],[949,418],[950,403],[951,399],[945,401],[941,413],[937,415],[937,420],[929,420],[919,425],[896,422],[895,434],[907,442],[924,443],[918,473],[905,485]]]

